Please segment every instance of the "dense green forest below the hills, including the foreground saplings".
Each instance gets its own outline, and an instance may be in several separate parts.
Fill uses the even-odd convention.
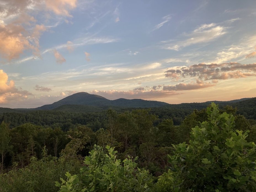
[[[255,191],[243,102],[1,113],[0,191]]]

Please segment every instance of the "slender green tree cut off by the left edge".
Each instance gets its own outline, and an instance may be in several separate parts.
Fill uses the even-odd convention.
[[[0,155],[1,155],[1,171],[4,170],[4,158],[6,154],[12,149],[10,145],[11,137],[9,128],[4,122],[0,125]]]

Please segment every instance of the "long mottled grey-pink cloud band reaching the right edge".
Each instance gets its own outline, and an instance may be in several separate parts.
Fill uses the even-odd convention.
[[[165,72],[165,76],[176,80],[190,76],[197,77],[205,81],[209,79],[244,78],[247,76],[256,76],[256,63],[199,63],[188,67],[183,66],[169,69]]]

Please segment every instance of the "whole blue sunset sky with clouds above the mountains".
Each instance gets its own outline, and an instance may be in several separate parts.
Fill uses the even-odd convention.
[[[255,31],[255,0],[0,0],[0,107],[256,97]]]

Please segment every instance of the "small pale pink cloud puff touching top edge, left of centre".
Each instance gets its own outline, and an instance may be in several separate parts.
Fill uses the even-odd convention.
[[[52,10],[57,15],[72,17],[69,11],[76,8],[76,0],[46,0],[46,8]]]

